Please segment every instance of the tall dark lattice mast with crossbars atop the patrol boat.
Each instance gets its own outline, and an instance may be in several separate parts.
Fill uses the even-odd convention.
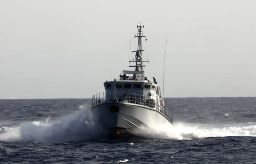
[[[143,67],[145,67],[143,65],[143,62],[148,62],[148,61],[143,61],[142,60],[142,37],[146,37],[143,36],[143,32],[142,29],[144,28],[144,25],[137,25],[138,28],[138,33],[137,35],[135,34],[134,37],[138,37],[138,46],[137,46],[137,50],[135,51],[131,51],[132,53],[135,53],[135,61],[133,59],[133,61],[129,61],[129,62],[135,62],[134,66],[129,66],[129,67],[135,67],[135,71],[143,71]],[[142,75],[143,76],[143,75]]]

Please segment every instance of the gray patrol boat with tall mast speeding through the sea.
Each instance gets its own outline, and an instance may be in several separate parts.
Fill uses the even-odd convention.
[[[135,70],[124,70],[119,80],[104,83],[105,94],[97,93],[92,97],[92,114],[94,126],[104,127],[111,136],[124,133],[132,134],[141,128],[158,125],[172,125],[172,112],[164,106],[160,87],[145,79],[142,59],[142,29],[137,25],[138,48],[135,51]]]

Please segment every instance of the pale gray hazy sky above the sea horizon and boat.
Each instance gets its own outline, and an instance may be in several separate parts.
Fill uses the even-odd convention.
[[[245,0],[2,0],[0,98],[102,92],[105,80],[129,69],[140,22],[146,76],[161,86],[168,32],[166,97],[256,96],[255,7]]]

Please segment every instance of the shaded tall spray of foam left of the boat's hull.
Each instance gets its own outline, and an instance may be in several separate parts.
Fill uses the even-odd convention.
[[[92,114],[85,105],[76,113],[55,120],[34,121],[17,127],[2,128],[0,141],[76,141],[92,139],[96,132]]]

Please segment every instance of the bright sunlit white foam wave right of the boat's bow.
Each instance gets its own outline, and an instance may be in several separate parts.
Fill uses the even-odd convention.
[[[155,126],[150,130],[141,127],[133,132],[143,137],[160,139],[191,140],[205,137],[253,136],[256,137],[256,123],[233,124],[232,126],[212,127],[205,124],[175,123],[174,126]]]

